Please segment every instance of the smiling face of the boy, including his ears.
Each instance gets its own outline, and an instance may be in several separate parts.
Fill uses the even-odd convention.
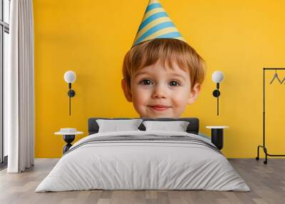
[[[179,118],[199,94],[199,84],[191,88],[188,70],[176,64],[173,68],[165,67],[160,61],[134,73],[130,90],[124,79],[122,87],[142,118]]]

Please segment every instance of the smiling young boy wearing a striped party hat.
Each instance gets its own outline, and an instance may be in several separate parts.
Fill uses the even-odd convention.
[[[179,118],[204,81],[204,60],[177,31],[158,1],[145,11],[123,62],[122,88],[141,118]]]

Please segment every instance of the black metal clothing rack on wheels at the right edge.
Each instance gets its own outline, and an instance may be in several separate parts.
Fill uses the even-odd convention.
[[[257,160],[259,160],[259,148],[263,148],[264,153],[265,153],[265,160],[264,164],[267,163],[267,156],[285,156],[285,155],[274,155],[274,154],[269,154],[267,152],[267,148],[265,146],[265,71],[276,71],[276,70],[285,70],[285,68],[263,68],[263,146],[258,146],[257,147]]]

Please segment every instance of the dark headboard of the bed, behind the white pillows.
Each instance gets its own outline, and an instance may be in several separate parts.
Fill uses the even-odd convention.
[[[88,134],[98,133],[99,126],[96,123],[97,119],[108,119],[108,120],[125,120],[133,118],[89,118],[88,119]],[[187,126],[187,133],[198,134],[199,133],[199,119],[198,118],[140,118],[144,121],[187,121],[189,125]],[[141,123],[138,127],[140,131],[145,131],[145,126]]]

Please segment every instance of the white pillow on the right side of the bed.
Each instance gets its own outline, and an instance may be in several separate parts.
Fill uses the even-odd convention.
[[[175,131],[186,132],[187,121],[143,121],[145,131]]]

